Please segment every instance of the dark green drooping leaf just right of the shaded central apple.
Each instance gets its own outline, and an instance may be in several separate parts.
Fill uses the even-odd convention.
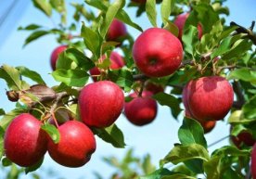
[[[158,93],[154,95],[153,98],[156,99],[161,106],[170,107],[174,118],[177,118],[179,113],[182,111],[180,108],[180,101],[172,95],[166,93]]]

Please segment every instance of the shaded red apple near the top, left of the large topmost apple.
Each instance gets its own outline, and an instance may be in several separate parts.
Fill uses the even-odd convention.
[[[120,42],[120,38],[124,37],[127,34],[126,26],[122,21],[118,19],[113,19],[109,26],[109,31],[107,33],[108,41],[117,41]]]

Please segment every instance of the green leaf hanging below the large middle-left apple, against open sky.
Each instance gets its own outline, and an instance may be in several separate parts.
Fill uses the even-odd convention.
[[[102,140],[111,144],[113,147],[123,148],[126,146],[122,131],[117,127],[116,124],[112,124],[104,129],[93,128],[93,132]]]

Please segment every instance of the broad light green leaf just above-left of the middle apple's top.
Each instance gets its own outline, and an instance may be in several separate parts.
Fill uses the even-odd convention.
[[[83,87],[88,82],[89,75],[85,70],[63,70],[58,69],[52,72],[54,79],[68,86]]]

